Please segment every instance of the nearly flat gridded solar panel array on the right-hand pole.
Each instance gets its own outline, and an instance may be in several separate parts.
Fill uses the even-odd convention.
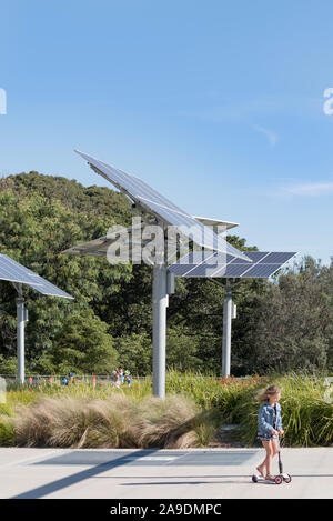
[[[295,254],[295,252],[246,251],[246,256],[252,260],[248,262],[216,252],[209,254],[194,251],[170,265],[169,271],[175,277],[184,278],[266,279]]]

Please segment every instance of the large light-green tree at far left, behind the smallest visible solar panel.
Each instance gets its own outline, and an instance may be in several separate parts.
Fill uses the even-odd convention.
[[[110,265],[103,259],[63,256],[61,251],[105,234],[124,211],[125,198],[112,190],[83,189],[75,181],[37,172],[0,181],[0,251],[72,294],[75,300],[41,297],[24,287],[29,309],[26,355],[31,368],[50,368],[48,353],[65,317],[84,305],[108,305],[104,288],[117,288],[131,278],[130,265]],[[102,208],[100,208],[102,207]],[[108,210],[107,210],[108,209]],[[105,213],[103,213],[105,212]],[[129,213],[129,212],[128,212]],[[16,355],[16,297],[0,282],[0,354]],[[83,305],[84,304],[84,305]]]

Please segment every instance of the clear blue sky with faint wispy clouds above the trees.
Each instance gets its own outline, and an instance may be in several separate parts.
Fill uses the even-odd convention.
[[[141,177],[260,250],[333,254],[333,3],[16,1],[0,9],[0,174]]]

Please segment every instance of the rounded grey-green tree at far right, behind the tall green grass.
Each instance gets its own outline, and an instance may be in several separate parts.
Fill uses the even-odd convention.
[[[243,349],[236,350],[248,372],[327,367],[333,309],[320,272],[307,258],[252,299]]]

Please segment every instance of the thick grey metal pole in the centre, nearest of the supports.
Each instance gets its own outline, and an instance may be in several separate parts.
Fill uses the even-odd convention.
[[[153,267],[153,395],[165,398],[167,265]]]

